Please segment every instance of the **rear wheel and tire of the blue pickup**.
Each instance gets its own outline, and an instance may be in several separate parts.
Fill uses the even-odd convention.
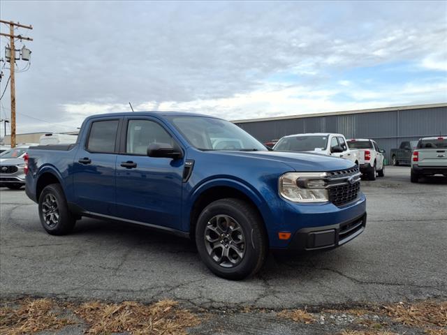
[[[68,211],[64,190],[60,184],[50,184],[43,188],[39,197],[38,211],[43,229],[48,234],[68,234],[75,226],[75,217]],[[48,211],[50,213],[45,215]]]

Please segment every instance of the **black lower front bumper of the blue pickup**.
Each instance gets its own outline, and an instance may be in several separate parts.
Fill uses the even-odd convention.
[[[351,241],[365,230],[366,213],[352,220],[336,225],[302,228],[295,232],[289,249],[298,251],[312,251],[336,248]]]

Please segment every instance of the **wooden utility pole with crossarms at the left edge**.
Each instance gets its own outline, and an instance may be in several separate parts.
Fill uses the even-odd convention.
[[[25,28],[25,29],[33,29],[32,26],[26,26],[24,24],[20,24],[19,22],[15,23],[13,21],[3,21],[0,20],[1,23],[9,24],[9,34],[0,33],[1,36],[9,37],[10,43],[10,93],[11,93],[11,148],[15,147],[15,45],[14,38],[19,38],[20,40],[33,40],[29,37],[24,37],[22,35],[14,36],[14,26]]]

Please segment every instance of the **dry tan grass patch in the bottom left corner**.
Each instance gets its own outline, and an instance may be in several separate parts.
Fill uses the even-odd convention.
[[[58,317],[57,306],[50,299],[23,299],[17,307],[0,307],[0,334],[32,334],[43,330],[57,330],[73,321]]]

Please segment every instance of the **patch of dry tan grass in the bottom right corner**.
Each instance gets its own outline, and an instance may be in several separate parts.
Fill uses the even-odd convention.
[[[447,327],[447,301],[400,302],[383,308],[390,318],[404,325]]]

